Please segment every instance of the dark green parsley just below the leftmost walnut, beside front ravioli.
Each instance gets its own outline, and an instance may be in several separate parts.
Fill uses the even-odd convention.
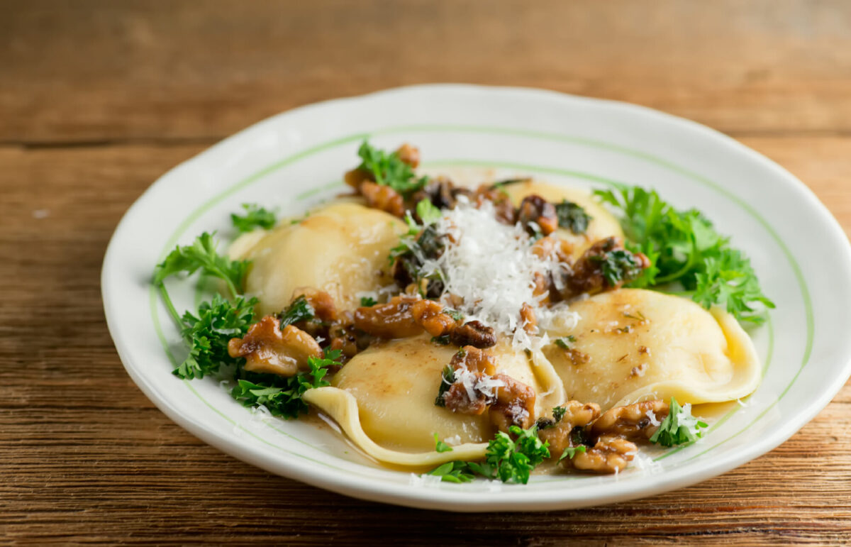
[[[237,386],[231,389],[231,396],[243,406],[266,406],[272,416],[296,418],[309,410],[301,396],[308,389],[330,385],[325,380],[328,367],[340,365],[339,360],[340,350],[326,350],[321,359],[312,356],[307,359],[309,370],[299,371],[291,377],[243,371],[246,378],[237,381]]]

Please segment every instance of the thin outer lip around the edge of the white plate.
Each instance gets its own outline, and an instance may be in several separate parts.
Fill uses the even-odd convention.
[[[278,475],[285,475],[291,478],[294,478],[299,481],[307,482],[314,486],[323,487],[328,490],[333,490],[335,492],[345,493],[347,495],[351,495],[357,498],[366,498],[378,501],[391,501],[392,503],[397,504],[405,504],[414,507],[426,507],[432,509],[448,509],[447,500],[445,499],[446,495],[451,495],[454,499],[452,500],[451,509],[453,510],[548,510],[548,509],[557,509],[563,508],[567,509],[570,507],[579,507],[590,504],[605,504],[613,501],[623,501],[626,499],[633,499],[639,497],[646,497],[654,495],[658,492],[664,492],[667,490],[671,490],[675,487],[686,487],[690,484],[694,484],[699,481],[704,481],[705,479],[710,478],[711,476],[720,475],[729,469],[734,469],[734,467],[739,466],[740,464],[745,463],[746,461],[750,461],[753,458],[757,458],[765,452],[772,450],[774,447],[779,446],[782,442],[788,439],[791,435],[797,432],[804,424],[808,423],[820,410],[826,406],[826,404],[837,394],[839,389],[842,389],[842,385],[847,381],[848,375],[851,374],[851,354],[848,354],[848,351],[845,352],[846,359],[842,371],[840,371],[839,376],[837,376],[833,383],[826,387],[826,389],[822,389],[820,392],[820,396],[814,398],[814,400],[810,400],[808,406],[805,410],[796,412],[792,417],[789,423],[796,423],[794,426],[790,426],[787,423],[786,427],[782,430],[783,432],[780,435],[775,434],[772,437],[769,437],[770,440],[768,442],[762,441],[758,446],[757,450],[746,450],[740,452],[738,457],[736,458],[726,458],[717,465],[714,465],[712,469],[707,469],[702,473],[694,473],[690,472],[686,476],[677,476],[677,470],[673,469],[671,471],[666,472],[665,475],[654,475],[655,481],[652,487],[648,487],[647,485],[639,485],[639,481],[625,481],[624,483],[620,483],[620,488],[616,489],[615,492],[612,492],[608,496],[595,496],[593,499],[588,500],[585,498],[553,498],[553,494],[557,491],[547,491],[547,492],[525,492],[529,496],[534,499],[524,499],[528,498],[528,496],[520,495],[523,492],[511,492],[511,495],[507,499],[502,499],[497,502],[491,500],[489,503],[482,503],[480,499],[464,499],[466,496],[460,495],[460,492],[448,492],[445,490],[437,490],[437,489],[420,489],[420,488],[410,488],[407,485],[402,483],[391,484],[391,487],[402,487],[403,492],[382,492],[382,488],[376,487],[376,484],[385,484],[385,483],[376,483],[373,485],[357,485],[350,483],[340,483],[339,481],[334,481],[328,477],[316,476],[315,474],[310,473],[313,469],[296,469],[300,467],[299,463],[289,462],[288,464],[292,466],[292,469],[281,469],[281,462],[277,460],[271,460],[271,458],[262,458],[262,453],[257,454],[252,450],[244,450],[244,447],[241,446],[232,446],[231,440],[226,439],[220,435],[216,435],[216,431],[214,429],[209,429],[203,423],[197,423],[187,417],[185,417],[180,412],[170,405],[168,399],[161,396],[153,386],[149,385],[146,382],[144,377],[141,377],[136,373],[133,366],[130,366],[130,362],[132,362],[132,357],[129,355],[129,351],[124,346],[123,342],[120,340],[120,336],[117,333],[117,320],[115,319],[114,310],[111,308],[111,294],[110,294],[110,267],[112,264],[111,256],[114,254],[113,245],[115,241],[117,241],[118,236],[122,232],[122,228],[127,226],[126,219],[129,218],[132,214],[134,214],[134,210],[140,208],[140,204],[144,204],[146,199],[151,199],[151,192],[155,187],[163,185],[167,182],[169,176],[180,169],[185,169],[186,165],[192,164],[195,162],[200,162],[203,158],[206,158],[208,155],[214,155],[220,150],[226,148],[228,143],[231,141],[235,141],[241,138],[243,135],[247,134],[250,131],[258,130],[263,127],[265,124],[274,124],[277,119],[288,116],[290,114],[294,114],[295,112],[305,112],[311,109],[321,109],[322,107],[328,105],[329,103],[340,103],[346,101],[357,102],[364,99],[375,99],[381,97],[381,95],[385,94],[395,94],[395,93],[406,93],[406,92],[419,92],[420,90],[434,90],[437,89],[439,91],[449,91],[449,92],[475,92],[475,93],[517,93],[521,95],[537,95],[538,97],[548,96],[549,98],[553,98],[561,101],[587,101],[588,103],[601,104],[605,103],[608,106],[614,108],[625,109],[627,111],[640,112],[645,116],[650,116],[652,118],[666,118],[667,121],[672,122],[674,124],[679,124],[684,126],[688,126],[689,130],[697,130],[703,133],[708,138],[721,139],[728,146],[732,145],[736,152],[745,153],[746,156],[751,160],[757,160],[762,167],[774,170],[774,174],[779,176],[780,178],[785,179],[786,183],[791,184],[792,187],[796,187],[798,191],[804,191],[808,194],[808,198],[811,201],[811,204],[814,204],[816,209],[818,209],[821,213],[821,216],[825,217],[828,223],[832,226],[833,230],[831,236],[833,239],[837,239],[837,235],[841,235],[842,239],[845,242],[845,253],[844,258],[845,262],[851,262],[851,248],[848,246],[848,240],[845,236],[845,233],[842,231],[842,227],[838,224],[837,220],[831,215],[831,213],[826,210],[824,204],[821,204],[820,200],[815,196],[815,194],[810,190],[802,181],[799,181],[797,177],[791,175],[787,170],[780,167],[780,165],[774,163],[768,158],[762,156],[762,154],[757,153],[749,147],[745,147],[745,145],[741,144],[738,141],[728,137],[727,135],[723,135],[717,130],[712,130],[711,128],[706,127],[705,125],[698,124],[694,121],[678,118],[671,114],[656,111],[654,109],[648,107],[641,107],[637,105],[632,105],[630,103],[620,102],[620,101],[610,101],[603,99],[594,99],[590,97],[577,97],[575,95],[565,95],[555,91],[545,90],[545,89],[531,89],[531,88],[516,88],[516,87],[491,87],[491,86],[476,86],[476,85],[468,85],[468,84],[426,84],[426,85],[415,85],[415,86],[405,86],[401,88],[394,89],[385,89],[375,93],[371,93],[368,95],[358,95],[355,97],[348,97],[343,99],[333,99],[329,101],[321,101],[317,103],[313,103],[311,105],[307,105],[305,107],[296,108],[287,112],[282,112],[271,118],[266,118],[265,120],[261,120],[257,124],[253,124],[248,128],[237,132],[234,135],[226,138],[223,141],[215,144],[212,147],[208,147],[201,153],[198,153],[196,156],[187,159],[185,162],[178,164],[173,169],[168,170],[163,176],[160,176],[157,181],[151,184],[150,187],[146,189],[146,192],[143,193],[139,199],[136,199],[134,204],[131,205],[129,210],[123,216],[121,222],[119,222],[115,233],[113,233],[110,244],[106,250],[106,256],[103,263],[103,269],[101,272],[101,287],[102,294],[104,300],[104,308],[106,313],[107,325],[109,327],[111,337],[113,341],[116,343],[117,351],[119,357],[122,360],[123,366],[125,370],[128,371],[130,377],[134,379],[134,383],[139,385],[140,389],[146,394],[146,396],[154,402],[154,404],[160,408],[163,413],[165,413],[169,418],[171,418],[175,423],[178,423],[184,429],[190,431],[193,435],[196,435],[198,438],[204,440],[208,444],[212,446],[216,446],[223,452],[229,453],[231,456],[239,458],[243,461],[248,461],[248,463],[257,465],[263,469],[269,470]],[[368,133],[368,132],[367,132]],[[224,187],[223,187],[224,188]],[[832,243],[832,242],[831,242]],[[168,245],[167,245],[168,247]],[[117,265],[118,268],[120,265]],[[120,268],[119,268],[120,269]],[[800,373],[800,372],[799,372]],[[842,379],[844,377],[844,379]],[[194,391],[194,389],[193,389]],[[774,403],[776,404],[776,403]],[[797,418],[797,419],[795,419]],[[758,418],[757,418],[758,419]],[[797,423],[799,422],[799,423]],[[776,442],[775,442],[776,441]],[[764,448],[764,449],[763,449]],[[746,454],[746,455],[743,455]],[[310,468],[308,464],[306,467]],[[296,476],[294,471],[308,471],[305,474],[299,473]],[[667,476],[666,476],[667,475]],[[630,484],[633,483],[633,484]],[[633,486],[630,488],[629,486]],[[636,490],[636,487],[641,487],[639,492],[631,492],[631,490]],[[391,488],[393,490],[393,488]],[[479,498],[481,492],[469,492],[475,498]],[[423,495],[426,494],[426,495]],[[428,495],[428,494],[437,494],[437,495]],[[509,492],[503,491],[501,495],[508,496]],[[550,499],[541,500],[540,498]],[[471,506],[473,504],[473,506]],[[522,507],[512,507],[517,504],[523,504]]]

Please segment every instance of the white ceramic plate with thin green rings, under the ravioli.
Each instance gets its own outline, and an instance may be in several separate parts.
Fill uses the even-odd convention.
[[[699,207],[751,256],[777,309],[751,331],[764,379],[744,406],[723,414],[698,444],[655,469],[617,476],[537,476],[528,485],[417,484],[380,469],[329,429],[255,417],[212,378],[181,381],[167,352],[180,336],[149,285],[175,244],[231,235],[239,204],[298,213],[340,191],[365,136],[380,147],[409,141],[426,164],[489,166],[550,181],[654,187]],[[851,252],[825,207],[794,176],[728,137],[627,104],[535,89],[427,85],[285,112],[180,164],[130,208],[103,268],[106,319],[134,382],[200,439],[273,473],[357,498],[442,510],[551,510],[606,504],[685,487],[780,445],[815,416],[851,371]],[[190,282],[169,282],[179,310]]]

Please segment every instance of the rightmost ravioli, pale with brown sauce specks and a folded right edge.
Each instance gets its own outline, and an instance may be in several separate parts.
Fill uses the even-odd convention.
[[[544,354],[568,399],[603,410],[671,396],[682,403],[721,402],[751,394],[760,381],[756,349],[725,311],[682,297],[620,289],[576,302],[570,349]]]

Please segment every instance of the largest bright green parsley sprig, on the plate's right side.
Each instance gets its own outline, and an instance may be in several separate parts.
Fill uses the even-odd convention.
[[[761,305],[774,308],[751,261],[731,248],[700,211],[676,210],[654,190],[641,187],[617,186],[594,194],[619,214],[630,240],[627,248],[643,252],[652,264],[630,286],[678,282],[705,308],[722,306],[737,320],[756,324],[765,320]]]

